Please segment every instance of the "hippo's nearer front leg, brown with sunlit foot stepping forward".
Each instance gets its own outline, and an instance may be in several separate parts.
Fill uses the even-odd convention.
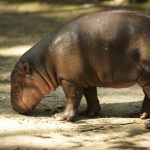
[[[66,108],[64,112],[55,114],[54,118],[61,121],[74,121],[78,113],[83,89],[64,80],[62,81],[62,87],[67,99]]]

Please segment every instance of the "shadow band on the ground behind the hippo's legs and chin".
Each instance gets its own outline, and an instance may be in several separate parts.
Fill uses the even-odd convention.
[[[59,103],[59,104],[58,104]],[[63,104],[64,103],[64,104]],[[99,115],[96,118],[139,118],[140,108],[141,108],[142,101],[137,102],[124,102],[124,103],[106,103],[101,104],[102,110],[100,111]],[[44,104],[41,102],[35,110],[29,116],[40,116],[40,117],[48,117],[53,116],[55,113],[62,112],[65,107],[65,102],[62,100],[61,102],[52,100],[48,100]],[[86,104],[82,104],[80,107],[80,111],[86,109]],[[80,112],[79,111],[79,112]],[[88,117],[83,115],[78,115],[79,120],[88,119]],[[90,118],[91,119],[91,118]]]

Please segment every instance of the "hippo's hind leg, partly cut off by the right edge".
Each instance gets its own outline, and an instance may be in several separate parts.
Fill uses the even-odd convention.
[[[146,119],[150,116],[150,73],[144,71],[139,77],[138,84],[142,87],[145,94],[140,118]]]

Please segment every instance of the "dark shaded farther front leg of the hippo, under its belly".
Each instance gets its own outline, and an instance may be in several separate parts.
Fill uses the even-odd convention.
[[[83,94],[87,101],[87,109],[85,111],[80,112],[80,115],[86,115],[88,117],[93,117],[98,115],[101,110],[99,100],[97,97],[97,89],[96,87],[88,87],[83,90]]]

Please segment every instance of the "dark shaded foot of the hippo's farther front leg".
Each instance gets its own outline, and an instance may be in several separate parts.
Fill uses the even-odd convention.
[[[79,115],[84,115],[84,116],[88,116],[88,117],[94,117],[94,116],[98,116],[100,110],[101,110],[101,107],[98,106],[98,107],[93,108],[93,109],[87,109],[85,111],[81,111],[79,113]]]

